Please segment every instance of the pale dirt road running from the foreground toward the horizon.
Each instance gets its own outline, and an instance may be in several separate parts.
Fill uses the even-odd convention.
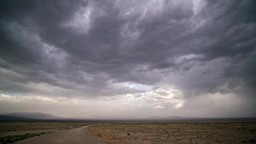
[[[87,130],[87,127],[60,130],[50,134],[30,137],[17,141],[15,144],[105,144],[99,137],[92,135]]]

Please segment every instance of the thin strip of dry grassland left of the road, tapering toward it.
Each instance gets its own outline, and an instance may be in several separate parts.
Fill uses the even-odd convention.
[[[46,130],[53,128],[74,128],[85,126],[81,123],[0,123],[0,132],[7,131],[31,131],[31,130]]]

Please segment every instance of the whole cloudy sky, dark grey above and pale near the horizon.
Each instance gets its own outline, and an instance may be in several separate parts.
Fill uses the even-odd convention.
[[[1,0],[0,112],[256,117],[256,0]]]

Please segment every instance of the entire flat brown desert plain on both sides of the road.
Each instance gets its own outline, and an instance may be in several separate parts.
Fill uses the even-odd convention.
[[[86,125],[90,126],[84,128],[89,131],[84,137],[98,137],[106,144],[256,143],[256,122],[3,122],[0,123],[0,144],[22,143],[24,139],[51,137],[76,129],[81,131]]]

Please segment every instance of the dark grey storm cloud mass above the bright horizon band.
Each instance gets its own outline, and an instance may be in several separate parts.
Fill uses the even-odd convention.
[[[131,82],[175,85],[188,98],[237,88],[250,93],[256,86],[253,0],[0,5],[0,88],[7,92],[143,92],[118,85]]]

